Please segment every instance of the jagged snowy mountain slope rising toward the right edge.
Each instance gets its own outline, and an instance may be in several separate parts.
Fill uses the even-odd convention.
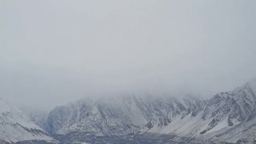
[[[255,142],[256,79],[234,91],[222,92],[212,99],[197,116],[175,117],[166,127],[153,127],[149,132],[171,133],[180,137],[246,143]]]

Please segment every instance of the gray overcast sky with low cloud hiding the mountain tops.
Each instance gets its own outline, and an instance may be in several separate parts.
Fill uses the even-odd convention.
[[[209,97],[256,76],[256,1],[0,1],[0,97]]]

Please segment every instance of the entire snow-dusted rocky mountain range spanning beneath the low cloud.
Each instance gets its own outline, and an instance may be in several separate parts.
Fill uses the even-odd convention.
[[[1,100],[0,139],[10,143],[256,143],[255,94],[254,78],[206,100],[136,94],[83,98],[55,107],[34,121],[38,126]]]

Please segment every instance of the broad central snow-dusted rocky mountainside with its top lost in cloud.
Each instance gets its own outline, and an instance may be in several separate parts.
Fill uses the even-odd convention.
[[[176,103],[176,107],[173,106]],[[185,111],[177,99],[138,98],[134,95],[110,100],[83,99],[56,107],[45,119],[50,133],[97,132],[99,135],[126,135],[147,127],[166,125],[170,118]],[[169,113],[170,111],[170,113]],[[147,125],[147,126],[145,126]]]

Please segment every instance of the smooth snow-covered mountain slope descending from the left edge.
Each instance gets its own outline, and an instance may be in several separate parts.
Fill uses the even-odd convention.
[[[28,140],[57,142],[19,109],[9,106],[0,99],[0,143]]]

